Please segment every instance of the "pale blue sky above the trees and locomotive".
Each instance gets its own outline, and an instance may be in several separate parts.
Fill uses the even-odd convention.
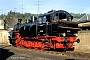
[[[0,0],[0,14],[7,14],[10,10],[20,13],[27,12],[37,14],[46,13],[52,9],[90,14],[90,0],[39,0],[39,12],[37,1],[38,0]]]

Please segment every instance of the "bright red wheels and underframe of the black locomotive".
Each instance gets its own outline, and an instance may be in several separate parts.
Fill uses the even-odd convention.
[[[36,36],[36,37],[21,37],[19,31],[13,31],[15,33],[16,46],[34,48],[34,49],[59,49],[73,47],[73,43],[76,41],[76,36],[60,37],[60,36]],[[64,44],[65,38],[69,40]]]

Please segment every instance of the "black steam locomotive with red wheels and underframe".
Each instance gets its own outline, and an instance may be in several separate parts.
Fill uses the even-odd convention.
[[[80,28],[72,20],[73,16],[64,10],[51,10],[40,14],[38,18],[31,16],[25,23],[18,19],[9,32],[10,43],[16,47],[41,50],[74,50],[73,43],[80,42],[77,38]]]

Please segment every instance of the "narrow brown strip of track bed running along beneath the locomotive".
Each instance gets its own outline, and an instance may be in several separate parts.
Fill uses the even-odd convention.
[[[11,46],[13,47],[13,46]],[[35,50],[35,49],[27,49],[22,47],[15,47],[16,49],[25,50],[25,51],[31,51],[31,52],[39,52],[44,54],[51,54],[51,55],[58,55],[58,56],[68,56],[68,57],[79,57],[79,58],[87,58],[90,59],[90,53],[84,53],[84,52],[76,52],[76,51],[66,51],[66,52],[59,52],[59,51],[48,51],[48,50]]]

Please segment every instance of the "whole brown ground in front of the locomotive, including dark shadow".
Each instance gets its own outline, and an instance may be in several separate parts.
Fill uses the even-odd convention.
[[[90,60],[90,54],[81,52],[56,52],[0,46],[0,60]]]

